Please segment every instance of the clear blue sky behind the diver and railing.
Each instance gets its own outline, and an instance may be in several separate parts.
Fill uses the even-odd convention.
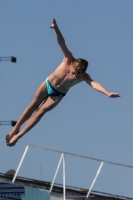
[[[0,57],[17,57],[16,64],[0,62],[1,121],[17,120],[62,61],[49,28],[53,17],[73,55],[89,61],[92,79],[121,94],[108,99],[80,83],[21,142],[133,165],[132,8],[132,0],[1,1]],[[0,137],[11,128],[1,126]],[[16,169],[23,151],[1,142],[0,172]],[[52,181],[59,158],[30,149],[19,175]],[[72,157],[66,163],[66,184],[88,189],[100,163]],[[132,169],[105,164],[93,190],[132,197],[132,185]]]

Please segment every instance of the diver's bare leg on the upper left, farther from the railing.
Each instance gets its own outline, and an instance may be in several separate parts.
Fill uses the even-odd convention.
[[[20,118],[18,119],[16,125],[14,126],[13,130],[6,135],[6,142],[8,143],[11,138],[18,134],[21,125],[28,120],[33,112],[38,109],[39,105],[45,101],[47,98],[47,91],[46,91],[46,84],[43,82],[39,88],[37,89],[33,101],[30,103],[30,105],[25,109],[25,111],[22,113]]]

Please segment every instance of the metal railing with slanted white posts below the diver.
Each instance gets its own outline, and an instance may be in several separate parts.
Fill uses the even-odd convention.
[[[1,141],[5,141],[5,139],[3,138],[0,138]],[[121,164],[121,163],[116,163],[116,162],[111,162],[111,161],[107,161],[107,160],[103,160],[103,159],[98,159],[98,158],[93,158],[93,157],[89,157],[89,156],[83,156],[83,155],[78,155],[78,154],[73,154],[73,153],[70,153],[70,152],[62,152],[62,151],[59,151],[59,150],[54,150],[54,149],[49,149],[49,148],[45,148],[45,147],[40,147],[40,146],[35,146],[35,145],[31,145],[31,144],[26,144],[26,143],[21,143],[21,142],[17,142],[18,145],[23,145],[23,146],[26,146],[25,150],[24,150],[24,153],[22,155],[22,158],[19,162],[19,165],[18,165],[18,168],[15,172],[15,175],[13,177],[13,180],[12,180],[12,183],[15,182],[16,180],[16,177],[18,175],[18,172],[22,166],[22,163],[25,159],[25,156],[27,154],[27,151],[28,149],[31,147],[31,148],[37,148],[37,149],[41,149],[41,150],[45,150],[45,151],[51,151],[51,152],[56,152],[56,153],[59,153],[61,154],[61,157],[60,157],[60,160],[59,160],[59,163],[58,163],[58,166],[57,166],[57,169],[56,169],[56,172],[55,172],[55,175],[54,175],[54,178],[53,178],[53,181],[51,183],[51,187],[50,187],[50,194],[52,192],[52,189],[53,189],[53,186],[54,186],[54,183],[55,183],[55,180],[56,180],[56,177],[57,177],[57,174],[58,174],[58,171],[59,171],[59,168],[60,168],[60,165],[61,165],[61,162],[63,162],[63,199],[65,200],[66,199],[66,163],[65,163],[65,155],[69,155],[69,156],[75,156],[75,157],[79,157],[79,158],[84,158],[84,159],[88,159],[88,160],[93,160],[93,161],[97,161],[97,162],[100,162],[100,166],[97,170],[97,173],[93,179],[93,182],[88,190],[88,193],[86,196],[77,196],[77,197],[86,197],[89,198],[90,196],[90,193],[92,191],[92,188],[101,172],[101,169],[103,167],[103,164],[107,163],[107,164],[111,164],[111,165],[116,165],[116,166],[122,166],[122,167],[127,167],[127,168],[132,168],[133,169],[133,166],[131,165],[126,165],[126,164]],[[67,196],[67,198],[70,198],[69,196]]]

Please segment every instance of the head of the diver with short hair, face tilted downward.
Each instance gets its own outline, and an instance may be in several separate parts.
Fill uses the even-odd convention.
[[[73,68],[75,69],[76,73],[79,75],[83,75],[88,67],[88,61],[82,58],[78,58],[73,63]]]

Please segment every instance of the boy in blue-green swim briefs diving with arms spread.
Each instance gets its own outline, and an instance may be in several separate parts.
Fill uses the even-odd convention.
[[[89,74],[86,73],[88,62],[84,59],[73,57],[73,54],[65,44],[55,19],[52,19],[50,28],[55,30],[57,42],[63,51],[64,59],[55,71],[39,86],[30,105],[22,113],[13,130],[6,135],[8,146],[14,146],[17,140],[35,126],[46,112],[56,107],[69,89],[77,83],[85,81],[95,90],[102,92],[108,97],[120,97],[117,93],[108,92],[100,83],[91,79]],[[32,116],[33,113],[34,115]],[[21,125],[26,120],[28,122],[20,131]]]

